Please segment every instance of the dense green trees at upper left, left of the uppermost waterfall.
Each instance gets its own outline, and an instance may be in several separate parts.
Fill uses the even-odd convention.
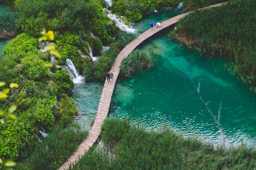
[[[82,35],[90,30],[104,44],[112,41],[111,29],[115,29],[110,19],[103,14],[99,1],[77,0],[23,0],[17,3],[19,25],[24,32],[39,36],[42,28],[54,32],[66,31]],[[110,26],[113,27],[110,27]]]

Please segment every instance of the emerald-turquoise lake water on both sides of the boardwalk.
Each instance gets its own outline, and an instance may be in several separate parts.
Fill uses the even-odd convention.
[[[149,28],[150,20],[162,22],[178,11],[170,13],[160,11],[153,19],[147,17],[137,23],[135,28],[143,32]],[[185,136],[219,143],[217,126],[196,92],[200,82],[200,93],[204,100],[210,101],[209,107],[215,115],[220,102],[223,103],[220,122],[226,142],[255,145],[256,95],[225,69],[228,61],[200,56],[168,39],[166,34],[150,40],[141,50],[152,57],[155,66],[131,79],[118,80],[111,117],[128,117],[146,129],[161,129],[166,124]],[[95,118],[101,88],[100,83],[74,88],[73,97],[81,112],[77,120],[87,127]]]

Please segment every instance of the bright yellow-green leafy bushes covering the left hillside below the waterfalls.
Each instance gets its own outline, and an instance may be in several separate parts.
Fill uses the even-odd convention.
[[[6,46],[5,54],[0,61],[0,82],[17,82],[20,87],[0,100],[3,114],[16,105],[18,117],[0,125],[0,157],[16,159],[21,151],[37,142],[35,134],[41,138],[39,130],[51,129],[57,120],[70,124],[77,108],[68,97],[73,87],[68,72],[59,68],[54,75],[49,73],[49,54],[39,52],[37,39],[22,33]]]

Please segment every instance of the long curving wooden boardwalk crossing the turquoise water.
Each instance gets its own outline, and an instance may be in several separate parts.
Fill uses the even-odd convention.
[[[215,7],[220,5],[222,5],[222,3],[212,5],[209,7]],[[209,8],[209,7],[206,7],[206,8]],[[75,164],[76,162],[78,162],[79,158],[81,158],[83,154],[85,154],[85,152],[88,151],[89,148],[93,146],[96,140],[98,139],[103,121],[108,116],[108,111],[110,109],[110,103],[112,100],[112,94],[114,92],[116,80],[120,72],[119,67],[121,65],[121,61],[125,57],[127,57],[135,48],[137,48],[137,46],[139,46],[142,42],[149,39],[153,35],[156,35],[156,33],[160,32],[162,29],[165,29],[177,23],[179,19],[183,18],[188,13],[189,12],[175,16],[168,20],[165,20],[165,22],[161,23],[160,28],[148,29],[147,31],[142,33],[140,36],[138,36],[135,40],[130,42],[127,46],[125,46],[123,50],[121,50],[121,52],[118,54],[118,56],[115,59],[114,65],[111,68],[111,72],[115,75],[115,78],[110,83],[107,83],[107,81],[105,81],[104,83],[102,95],[100,96],[99,107],[96,114],[96,118],[93,126],[89,131],[87,138],[85,139],[85,141],[81,143],[81,145],[79,145],[77,151],[75,151],[74,154],[70,156],[70,158],[63,165],[61,165],[59,170],[69,169],[69,166],[72,166],[72,164]]]

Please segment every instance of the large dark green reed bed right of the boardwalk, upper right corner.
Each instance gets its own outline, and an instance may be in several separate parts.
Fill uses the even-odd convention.
[[[200,52],[233,61],[230,71],[256,87],[255,8],[252,0],[196,11],[177,23],[173,35]]]

